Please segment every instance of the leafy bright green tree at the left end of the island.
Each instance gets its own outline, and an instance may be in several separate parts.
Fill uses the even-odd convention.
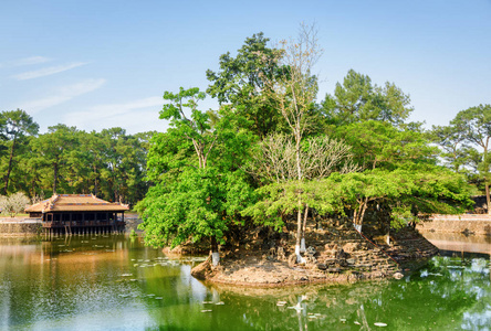
[[[170,128],[153,139],[148,173],[156,185],[137,210],[148,244],[208,238],[218,264],[218,243],[224,243],[230,224],[240,222],[239,211],[253,194],[234,162],[244,157],[252,136],[234,125],[238,115],[228,107],[211,127],[209,114],[198,109],[203,98],[198,88],[164,94],[160,118],[170,120]]]

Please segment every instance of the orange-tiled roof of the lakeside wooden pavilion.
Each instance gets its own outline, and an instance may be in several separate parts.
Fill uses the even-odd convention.
[[[27,207],[25,212],[125,212],[128,210],[126,204],[107,202],[93,194],[54,194],[50,199]]]

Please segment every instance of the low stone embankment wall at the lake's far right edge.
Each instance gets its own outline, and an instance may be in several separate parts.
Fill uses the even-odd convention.
[[[491,215],[433,215],[428,221],[420,222],[416,228],[421,232],[467,233],[491,236]]]

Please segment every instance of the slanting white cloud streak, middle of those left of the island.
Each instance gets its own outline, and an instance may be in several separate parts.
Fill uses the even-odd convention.
[[[86,79],[76,84],[60,87],[53,93],[52,96],[23,103],[20,108],[25,109],[30,114],[35,114],[49,107],[65,103],[76,96],[97,89],[103,86],[105,82],[106,79],[103,78]]]

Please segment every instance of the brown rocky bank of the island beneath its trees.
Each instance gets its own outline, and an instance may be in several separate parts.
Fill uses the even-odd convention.
[[[295,263],[292,241],[282,243],[280,238],[273,247],[264,249],[265,241],[271,246],[271,239],[264,238],[224,252],[217,267],[211,266],[209,258],[195,267],[191,275],[211,284],[245,287],[401,278],[439,252],[410,227],[393,233],[389,245],[376,243],[344,226],[310,231],[306,234],[310,246],[303,264]]]

